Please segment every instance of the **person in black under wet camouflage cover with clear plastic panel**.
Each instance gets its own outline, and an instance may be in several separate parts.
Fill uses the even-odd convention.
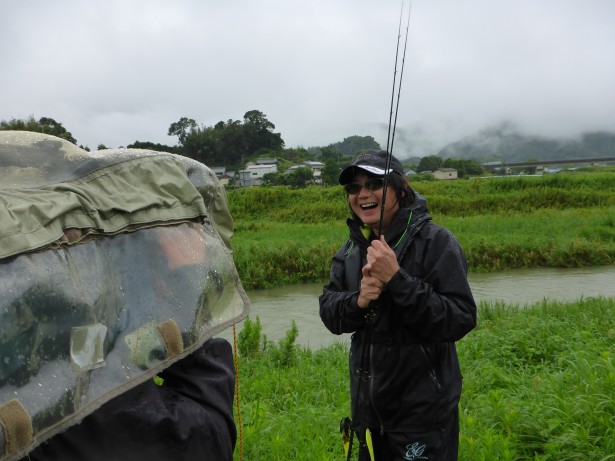
[[[232,461],[247,316],[214,172],[0,131],[0,460]]]

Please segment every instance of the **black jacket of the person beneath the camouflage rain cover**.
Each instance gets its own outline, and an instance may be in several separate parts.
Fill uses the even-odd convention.
[[[230,461],[236,441],[231,345],[214,338],[36,447],[32,461]]]

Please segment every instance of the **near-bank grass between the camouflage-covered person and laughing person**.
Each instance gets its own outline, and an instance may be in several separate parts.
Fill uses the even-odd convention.
[[[239,360],[244,426],[238,443],[245,459],[341,459],[335,426],[350,408],[346,346],[311,351],[292,345],[290,366],[279,360],[282,347],[269,344],[261,355]]]

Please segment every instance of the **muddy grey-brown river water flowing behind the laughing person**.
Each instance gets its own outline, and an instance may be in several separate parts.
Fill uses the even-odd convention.
[[[526,305],[543,299],[575,301],[588,297],[615,297],[615,265],[574,269],[522,269],[468,276],[477,303],[504,301]],[[272,341],[284,337],[295,320],[297,344],[317,349],[334,341],[348,341],[350,335],[336,336],[322,324],[318,296],[322,284],[292,285],[249,291],[250,319],[261,322],[263,334]],[[241,330],[239,324],[237,331]],[[221,335],[232,340],[232,329]]]

